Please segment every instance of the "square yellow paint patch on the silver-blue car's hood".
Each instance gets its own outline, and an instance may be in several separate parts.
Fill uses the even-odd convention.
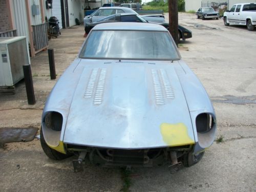
[[[189,137],[187,127],[184,123],[162,123],[160,125],[160,129],[164,142],[169,146],[180,146],[195,143],[195,140]]]

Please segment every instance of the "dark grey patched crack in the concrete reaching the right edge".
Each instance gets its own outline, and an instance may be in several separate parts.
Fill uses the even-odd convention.
[[[256,95],[236,97],[233,95],[224,95],[220,97],[210,97],[212,102],[231,103],[231,104],[256,104]]]

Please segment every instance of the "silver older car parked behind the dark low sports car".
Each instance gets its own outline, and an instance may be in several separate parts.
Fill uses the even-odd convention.
[[[118,13],[135,13],[134,10],[127,7],[100,7],[96,11],[94,11],[91,15],[84,17],[83,24],[86,27],[86,24],[91,24],[97,22],[99,19],[104,18],[106,16],[118,14]],[[148,22],[165,22],[163,15],[153,14],[153,15],[140,15],[143,19]]]

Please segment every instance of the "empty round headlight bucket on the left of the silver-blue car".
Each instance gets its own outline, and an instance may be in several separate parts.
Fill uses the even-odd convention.
[[[61,131],[63,117],[58,112],[48,112],[45,116],[44,122],[48,129]]]

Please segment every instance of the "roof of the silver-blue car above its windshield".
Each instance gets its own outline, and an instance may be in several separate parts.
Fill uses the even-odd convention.
[[[163,26],[150,23],[117,22],[96,25],[92,30],[134,30],[134,31],[168,31]]]

